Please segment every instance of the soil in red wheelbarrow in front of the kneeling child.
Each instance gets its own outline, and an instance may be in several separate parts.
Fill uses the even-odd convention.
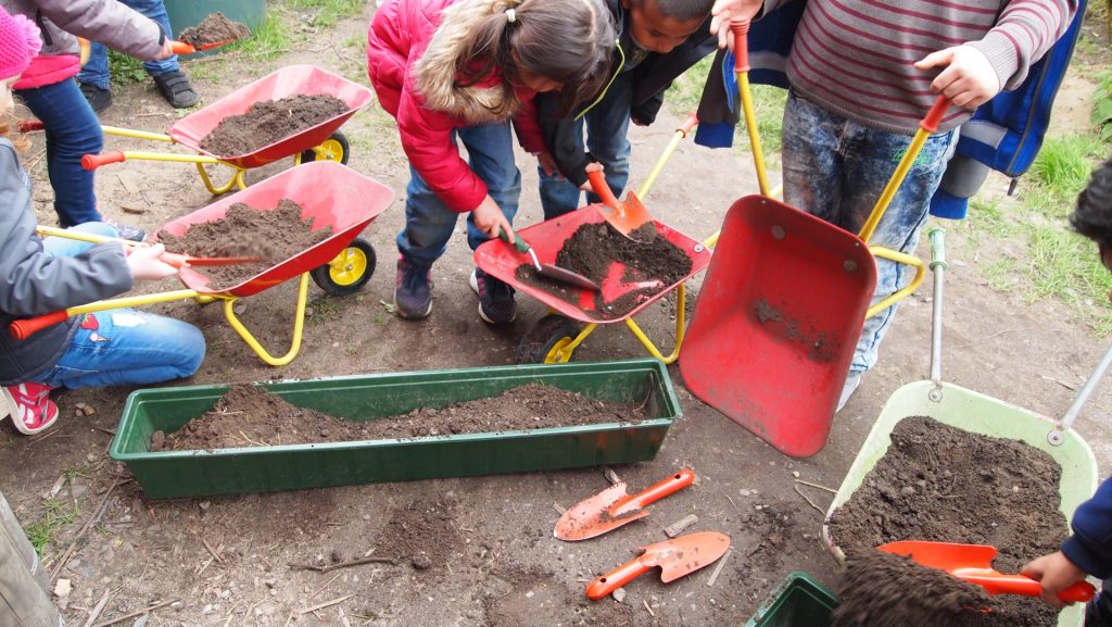
[[[221,290],[297,256],[332,235],[330,227],[312,231],[312,219],[301,219],[304,209],[282,198],[274,210],[259,210],[244,203],[228,207],[221,219],[195,224],[178,237],[160,231],[166,249],[195,257],[261,257],[258,263],[227,266],[193,266],[212,278],[209,287]]]

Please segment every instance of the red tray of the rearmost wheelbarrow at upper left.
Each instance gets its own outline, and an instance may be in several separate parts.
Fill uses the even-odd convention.
[[[224,118],[246,114],[256,102],[290,96],[334,96],[347,102],[348,110],[246,155],[214,155],[201,149],[201,139],[208,137]],[[320,145],[356,111],[367,106],[370,99],[370,89],[341,76],[315,66],[289,66],[245,85],[216,102],[181,118],[167,134],[178,144],[202,155],[244,169],[254,168]]]

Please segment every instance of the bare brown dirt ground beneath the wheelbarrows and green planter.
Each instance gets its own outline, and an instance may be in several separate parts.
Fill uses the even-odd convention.
[[[369,13],[370,9],[367,9]],[[187,65],[212,102],[278,67],[312,62],[366,82],[358,45],[367,16],[321,32],[314,45],[274,61],[235,57]],[[308,27],[306,27],[308,28]],[[103,121],[165,131],[175,112],[150,85],[118,91]],[[662,151],[679,117],[664,114],[649,128],[634,128],[638,184]],[[545,307],[519,298],[518,320],[493,330],[477,315],[467,277],[473,263],[463,222],[435,266],[436,300],[424,322],[394,317],[383,302],[394,288],[394,237],[403,224],[407,180],[397,133],[375,105],[348,121],[350,167],[393,188],[398,199],[364,236],[374,243],[379,267],[358,295],[328,297],[312,288],[300,355],[289,365],[264,365],[225,321],[220,307],[178,302],[152,307],[203,329],[209,352],[191,384],[309,379],[328,375],[508,364],[518,340]],[[167,149],[149,141],[109,138],[117,148]],[[185,151],[181,148],[169,148]],[[36,147],[28,165],[37,179],[40,219],[52,224],[43,164]],[[520,155],[524,192],[515,224],[540,219],[532,159]],[[291,161],[248,174],[258,182]],[[716,232],[739,196],[757,186],[747,154],[683,145],[645,199],[657,219],[695,237]],[[773,173],[776,176],[776,173]],[[98,174],[103,213],[155,231],[212,200],[191,165],[128,161]],[[999,187],[999,186],[997,186]],[[1022,185],[1021,185],[1022,190]],[[351,198],[358,203],[358,198]],[[953,225],[943,225],[953,226]],[[963,243],[951,228],[946,275],[943,376],[945,380],[1046,415],[1060,415],[1099,361],[1106,341],[1064,306],[1025,303],[992,291],[980,267],[1000,252],[993,242]],[[926,254],[923,246],[921,254]],[[775,272],[776,268],[768,268]],[[785,277],[785,281],[791,281]],[[689,287],[697,295],[702,275]],[[239,302],[245,323],[272,353],[291,336],[295,282]],[[929,285],[929,284],[927,284]],[[169,281],[156,286],[175,290]],[[1104,296],[1092,295],[1094,306]],[[671,347],[674,298],[639,314],[637,322]],[[827,445],[816,455],[790,459],[687,393],[678,370],[669,370],[684,415],[671,429],[655,461],[615,469],[632,490],[692,468],[698,482],[652,506],[652,516],[595,540],[563,543],[552,537],[554,503],[568,507],[608,486],[599,469],[411,483],[240,494],[159,501],[146,499],[126,470],[107,457],[111,432],[130,390],[82,390],[58,395],[60,428],[34,439],[0,424],[0,489],[26,523],[43,520],[48,501],[72,520],[58,523],[43,557],[57,565],[73,591],[70,624],[87,624],[106,595],[99,620],[159,601],[147,625],[741,625],[792,570],[830,581],[835,562],[821,541],[830,496],[795,482],[836,488],[884,401],[904,383],[929,373],[930,288],[907,300],[882,351],[848,405],[834,420]],[[745,350],[738,346],[738,351]],[[643,356],[624,325],[604,325],[575,353],[578,361]],[[78,403],[96,413],[77,418]],[[1100,417],[1112,405],[1102,385],[1076,424],[1103,468],[1112,461],[1112,438]],[[115,487],[115,488],[113,488]],[[110,491],[109,491],[110,490]],[[101,507],[102,506],[102,507]],[[624,602],[587,601],[595,576],[627,561],[637,547],[664,539],[662,529],[694,513],[691,531],[731,536],[733,549],[711,584],[711,569],[671,585],[648,574],[626,588]],[[97,520],[89,532],[79,531]],[[363,557],[396,558],[328,571],[329,564]],[[1032,556],[1033,557],[1033,556]],[[318,570],[298,566],[317,566]],[[340,599],[321,609],[315,606]],[[129,619],[121,625],[131,625]]]

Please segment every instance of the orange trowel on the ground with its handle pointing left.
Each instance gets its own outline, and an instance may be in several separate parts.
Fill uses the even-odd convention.
[[[642,555],[615,570],[595,578],[587,585],[587,598],[598,600],[636,577],[661,567],[661,581],[668,584],[714,564],[729,549],[729,536],[717,531],[699,531],[672,540],[649,545]]]

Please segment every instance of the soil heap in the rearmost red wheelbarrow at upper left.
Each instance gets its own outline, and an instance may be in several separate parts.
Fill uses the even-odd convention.
[[[347,110],[344,100],[320,94],[256,102],[246,114],[220,120],[201,139],[201,149],[218,157],[249,155]]]

